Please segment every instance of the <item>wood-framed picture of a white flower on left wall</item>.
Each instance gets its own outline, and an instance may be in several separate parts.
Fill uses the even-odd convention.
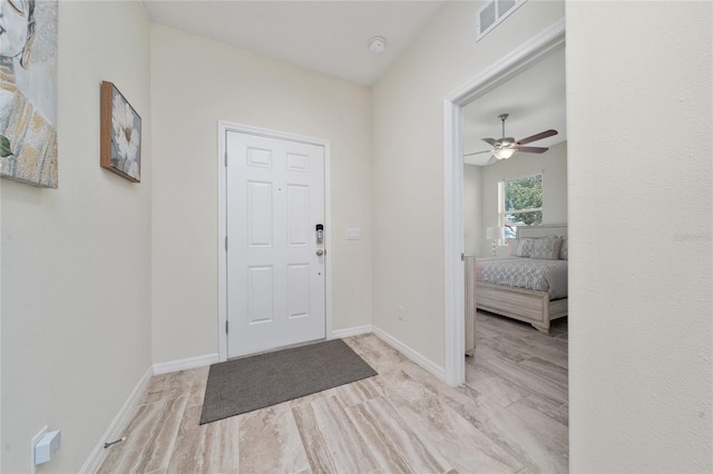
[[[101,82],[100,160],[102,168],[141,181],[141,118],[111,82]]]

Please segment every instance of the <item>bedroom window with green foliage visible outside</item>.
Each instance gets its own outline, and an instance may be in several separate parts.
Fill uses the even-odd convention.
[[[505,179],[498,184],[499,225],[505,243],[515,238],[517,226],[543,224],[543,175]]]

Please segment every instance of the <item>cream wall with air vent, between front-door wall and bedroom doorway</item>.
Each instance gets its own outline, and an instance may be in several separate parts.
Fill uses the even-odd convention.
[[[443,98],[564,17],[528,1],[476,42],[481,6],[449,2],[373,90],[373,324],[441,367]]]

